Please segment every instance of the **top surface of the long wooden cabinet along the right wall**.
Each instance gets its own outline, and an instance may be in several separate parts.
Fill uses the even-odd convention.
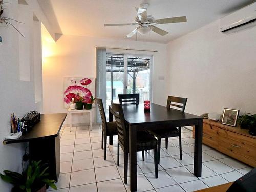
[[[235,132],[235,133],[256,139],[256,136],[249,134],[249,130],[241,129],[241,127],[239,125],[237,125],[237,127],[228,126],[228,125],[221,124],[220,122],[217,122],[217,121],[211,120],[211,119],[203,119],[203,122],[207,123],[209,125],[220,127],[221,129],[224,129],[224,130],[227,130],[230,132]]]

